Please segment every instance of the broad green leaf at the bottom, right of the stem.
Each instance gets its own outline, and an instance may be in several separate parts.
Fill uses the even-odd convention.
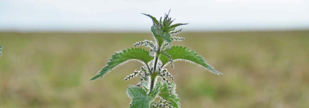
[[[161,91],[159,93],[159,96],[161,98],[163,98],[164,100],[167,100],[169,102],[171,102],[171,106],[173,106],[173,108],[180,108],[180,98],[178,97],[178,95],[176,94],[176,84],[175,83],[171,83],[171,87],[172,87],[172,95],[169,95],[169,89],[168,89],[168,85],[167,83],[164,83]]]

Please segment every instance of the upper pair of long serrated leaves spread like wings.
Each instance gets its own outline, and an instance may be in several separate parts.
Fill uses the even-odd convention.
[[[182,46],[172,46],[166,52],[167,54],[171,55],[172,59],[175,61],[179,60],[189,61],[192,63],[196,63],[199,66],[202,66],[207,70],[209,70],[210,72],[215,73],[217,75],[222,74],[221,72],[216,71],[214,67],[207,64],[206,60],[204,60],[202,56],[197,55],[197,52],[189,48]],[[93,76],[90,80],[102,78],[107,72],[111,71],[113,68],[121,64],[124,64],[128,61],[137,60],[142,64],[148,64],[148,62],[150,62],[153,59],[154,59],[153,57],[149,56],[149,52],[142,48],[131,48],[122,50],[121,52],[116,52],[115,54],[113,54],[111,59],[109,59],[107,65],[103,67],[102,70],[100,70],[98,74]],[[162,62],[162,66],[167,65],[169,63],[169,59],[167,56],[160,55],[159,59]]]

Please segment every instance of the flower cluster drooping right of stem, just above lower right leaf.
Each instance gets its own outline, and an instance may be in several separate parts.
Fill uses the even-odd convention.
[[[174,77],[170,74],[170,72],[167,71],[166,68],[159,68],[158,70],[158,75],[161,76],[162,80],[165,81],[168,85],[168,89],[170,91],[169,95],[172,95],[172,87],[171,87],[171,83],[168,81],[168,79],[165,78],[165,76],[169,77],[171,80],[174,80]]]

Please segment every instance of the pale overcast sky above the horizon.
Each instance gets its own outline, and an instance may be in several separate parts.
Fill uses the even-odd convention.
[[[309,0],[0,0],[0,31],[149,31],[170,9],[184,31],[309,29]]]

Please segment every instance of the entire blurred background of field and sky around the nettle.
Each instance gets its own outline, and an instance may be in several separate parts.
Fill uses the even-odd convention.
[[[0,108],[127,108],[129,62],[89,81],[115,51],[153,40],[171,9],[192,48],[223,75],[167,67],[182,108],[308,108],[307,0],[2,0]]]

